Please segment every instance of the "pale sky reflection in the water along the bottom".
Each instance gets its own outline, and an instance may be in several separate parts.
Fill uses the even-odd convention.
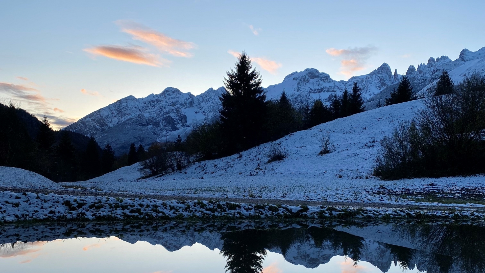
[[[224,273],[226,258],[219,249],[194,243],[169,252],[161,245],[145,241],[129,243],[109,238],[74,238],[2,245],[0,268],[10,273]],[[262,273],[338,272],[381,273],[366,261],[334,256],[328,263],[309,269],[288,262],[269,251],[262,262]],[[402,272],[392,265],[388,272]],[[418,272],[417,268],[408,272]]]

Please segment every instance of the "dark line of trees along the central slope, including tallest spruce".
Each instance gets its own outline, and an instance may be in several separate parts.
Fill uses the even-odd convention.
[[[283,90],[278,100],[266,100],[262,77],[245,52],[235,68],[226,73],[226,93],[220,100],[219,120],[195,126],[184,147],[199,160],[237,154],[259,144],[274,141],[333,119],[364,111],[361,88],[335,96],[330,105],[317,99],[295,107]]]

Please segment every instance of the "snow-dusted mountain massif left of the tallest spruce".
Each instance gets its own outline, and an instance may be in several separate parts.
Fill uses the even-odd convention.
[[[99,145],[110,143],[116,153],[127,152],[130,143],[149,146],[153,142],[175,140],[192,126],[210,122],[219,113],[224,87],[209,88],[194,96],[167,87],[145,98],[128,96],[103,107],[67,126],[83,135],[94,136]]]

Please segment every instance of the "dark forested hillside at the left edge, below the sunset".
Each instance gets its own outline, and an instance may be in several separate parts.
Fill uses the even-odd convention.
[[[38,120],[13,102],[0,103],[0,166],[16,167],[55,182],[80,181],[113,171],[112,147],[93,137],[54,131],[49,119]]]

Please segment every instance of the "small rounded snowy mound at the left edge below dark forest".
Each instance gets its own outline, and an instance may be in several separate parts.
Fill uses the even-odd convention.
[[[38,173],[12,167],[0,167],[0,187],[63,188]]]

